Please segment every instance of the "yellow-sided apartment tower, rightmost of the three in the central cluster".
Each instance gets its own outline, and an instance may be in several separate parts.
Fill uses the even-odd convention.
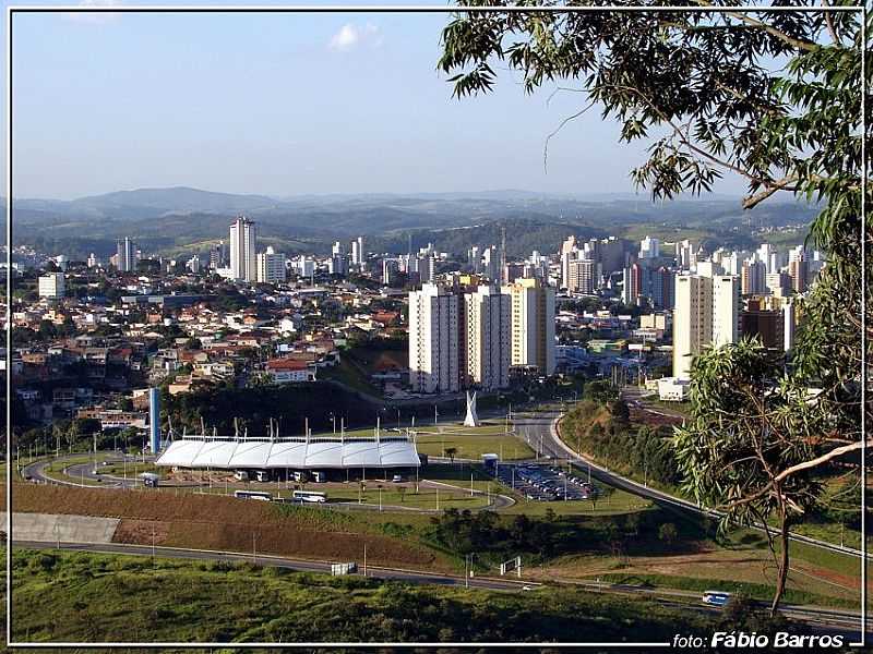
[[[511,365],[554,373],[554,287],[540,278],[503,287],[512,303]]]

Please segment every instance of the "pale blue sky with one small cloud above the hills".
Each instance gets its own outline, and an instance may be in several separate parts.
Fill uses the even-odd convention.
[[[436,71],[450,20],[15,14],[13,195],[634,192],[645,144],[619,144],[596,109],[551,140],[545,169],[548,135],[584,95],[526,95],[504,69],[494,93],[452,98]],[[739,194],[742,182],[716,190]]]

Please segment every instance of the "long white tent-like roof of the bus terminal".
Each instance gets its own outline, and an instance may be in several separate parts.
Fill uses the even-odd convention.
[[[323,470],[418,468],[415,440],[381,438],[186,437],[174,440],[155,462],[175,468]]]

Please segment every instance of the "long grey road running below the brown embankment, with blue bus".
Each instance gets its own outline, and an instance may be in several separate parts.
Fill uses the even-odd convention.
[[[35,541],[14,541],[13,545],[29,549],[57,549],[57,543]],[[130,556],[156,556],[160,558],[177,558],[187,560],[251,562],[260,566],[287,568],[300,572],[319,572],[330,574],[331,561],[313,561],[307,559],[286,558],[272,555],[241,554],[232,552],[214,552],[206,549],[188,549],[181,547],[151,547],[148,545],[124,545],[116,543],[81,544],[61,543],[61,548],[72,552],[88,552],[93,554],[115,554]],[[363,564],[358,562],[358,573],[363,574]],[[447,586],[468,586],[500,592],[525,592],[537,589],[547,590],[542,583],[522,579],[497,579],[493,577],[473,577],[469,580],[458,574],[444,574],[439,572],[422,572],[418,570],[402,570],[381,566],[368,566],[367,577],[385,581],[397,581],[415,584],[435,584]],[[591,582],[576,582],[572,585],[585,588],[591,592],[648,596],[663,606],[693,610],[707,615],[717,615],[720,609],[699,604],[701,594],[692,591],[673,591],[667,589],[653,589],[630,584],[611,584]],[[765,606],[761,603],[761,606]],[[857,635],[859,616],[856,613],[840,609],[821,608],[815,606],[784,605],[780,609],[786,617],[805,622],[822,632],[845,633],[848,638]]]

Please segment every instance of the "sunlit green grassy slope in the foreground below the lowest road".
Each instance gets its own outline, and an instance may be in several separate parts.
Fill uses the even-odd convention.
[[[16,550],[13,566],[21,641],[619,641],[711,629],[687,611],[574,589],[412,586],[84,553]]]

